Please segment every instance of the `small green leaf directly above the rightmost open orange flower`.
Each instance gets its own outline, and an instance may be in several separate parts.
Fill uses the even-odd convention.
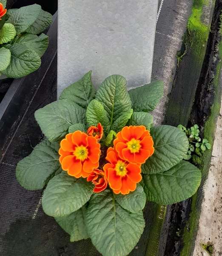
[[[154,118],[150,113],[134,112],[129,120],[129,125],[144,125],[147,130],[150,130]]]

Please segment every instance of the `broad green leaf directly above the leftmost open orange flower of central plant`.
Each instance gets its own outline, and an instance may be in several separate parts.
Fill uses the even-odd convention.
[[[68,133],[71,125],[85,123],[85,109],[62,99],[35,111],[35,119],[48,140],[56,141]]]

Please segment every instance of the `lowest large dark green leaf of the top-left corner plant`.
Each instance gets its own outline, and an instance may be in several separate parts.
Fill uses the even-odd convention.
[[[5,48],[11,51],[11,62],[3,74],[7,77],[20,78],[37,70],[41,65],[39,55],[20,44],[7,44]]]

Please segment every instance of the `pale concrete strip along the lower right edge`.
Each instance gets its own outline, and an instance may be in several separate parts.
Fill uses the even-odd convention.
[[[222,82],[222,73],[221,78]],[[202,244],[212,244],[212,256],[222,255],[222,104],[217,119],[211,167],[204,186],[199,228],[193,256],[209,256]]]

